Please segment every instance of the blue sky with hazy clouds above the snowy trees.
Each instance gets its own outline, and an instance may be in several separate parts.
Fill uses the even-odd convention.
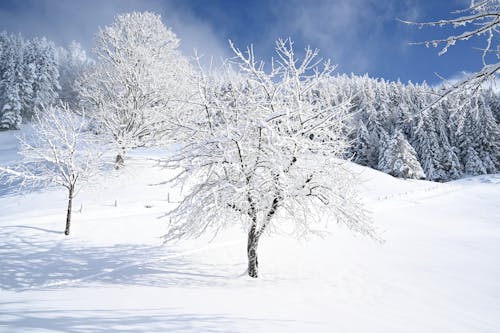
[[[320,49],[341,73],[368,73],[388,80],[437,84],[434,73],[452,78],[481,67],[481,40],[459,44],[443,56],[437,49],[408,45],[443,37],[446,30],[418,29],[396,19],[427,21],[450,17],[468,0],[1,0],[0,30],[27,37],[44,35],[64,45],[76,40],[87,49],[99,26],[116,14],[154,11],[177,33],[182,49],[206,56],[231,56],[228,39],[254,44],[270,59],[273,41],[291,37],[298,47]]]

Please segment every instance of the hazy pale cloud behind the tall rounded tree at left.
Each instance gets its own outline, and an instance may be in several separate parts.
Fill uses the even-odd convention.
[[[216,35],[210,24],[196,17],[189,7],[171,1],[31,0],[19,6],[22,8],[0,11],[0,30],[21,32],[27,37],[44,35],[61,45],[77,40],[90,49],[99,26],[112,23],[117,14],[148,10],[162,15],[166,25],[181,38],[181,49],[186,55],[192,55],[195,47],[215,58],[228,54],[226,41]]]

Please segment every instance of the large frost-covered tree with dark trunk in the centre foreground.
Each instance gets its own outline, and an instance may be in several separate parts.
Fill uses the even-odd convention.
[[[256,278],[260,237],[289,221],[297,236],[323,232],[325,217],[375,236],[342,160],[349,104],[332,106],[315,90],[334,68],[320,69],[309,48],[299,60],[290,40],[276,42],[269,71],[252,48],[231,47],[237,70],[201,74],[199,116],[182,124],[191,137],[165,162],[188,191],[170,212],[166,239],[242,224]]]

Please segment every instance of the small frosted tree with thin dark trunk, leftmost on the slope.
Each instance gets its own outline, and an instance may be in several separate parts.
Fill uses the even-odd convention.
[[[99,169],[100,154],[93,150],[86,119],[66,105],[35,110],[33,132],[20,137],[21,162],[0,167],[7,183],[21,180],[22,186],[56,185],[68,191],[64,233],[69,235],[73,198]]]

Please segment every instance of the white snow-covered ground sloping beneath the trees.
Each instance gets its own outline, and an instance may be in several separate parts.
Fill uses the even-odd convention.
[[[178,196],[149,154],[79,194],[69,237],[63,191],[2,192],[0,332],[500,332],[500,175],[352,166],[385,242],[267,236],[254,280],[238,228],[162,244]]]

